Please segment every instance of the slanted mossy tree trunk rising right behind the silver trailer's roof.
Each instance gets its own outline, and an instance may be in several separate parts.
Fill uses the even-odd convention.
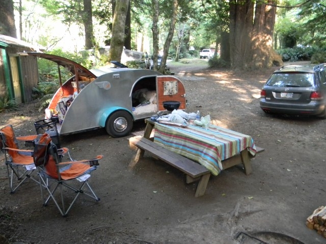
[[[124,29],[129,7],[129,0],[117,0],[112,22],[112,38],[108,62],[111,60],[121,61],[124,44]]]

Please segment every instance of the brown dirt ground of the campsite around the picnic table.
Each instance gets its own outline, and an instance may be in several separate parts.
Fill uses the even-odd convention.
[[[212,123],[249,134],[265,148],[251,160],[251,175],[241,166],[224,170],[195,198],[196,183],[187,185],[180,171],[149,154],[128,169],[134,151],[127,138],[142,135],[143,121],[125,138],[105,130],[65,136],[61,143],[73,158],[104,156],[90,179],[101,200],[81,196],[63,218],[52,203],[42,206],[34,182],[10,194],[0,154],[0,234],[19,243],[326,243],[305,225],[314,209],[326,205],[326,121],[264,114],[260,88],[276,68],[234,73],[171,67],[185,85],[186,112],[210,114]],[[0,113],[0,127],[12,124],[16,136],[34,134],[34,122],[44,116],[37,106]]]

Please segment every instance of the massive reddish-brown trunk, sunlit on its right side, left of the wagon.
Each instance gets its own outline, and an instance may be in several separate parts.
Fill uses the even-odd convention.
[[[271,66],[277,0],[230,1],[231,68]],[[255,13],[254,13],[255,9]]]

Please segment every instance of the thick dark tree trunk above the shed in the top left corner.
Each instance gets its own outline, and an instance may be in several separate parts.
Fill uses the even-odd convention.
[[[14,2],[12,0],[0,0],[0,34],[17,38]]]

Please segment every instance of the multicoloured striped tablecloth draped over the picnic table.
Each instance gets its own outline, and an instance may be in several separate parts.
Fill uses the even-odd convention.
[[[256,146],[251,136],[218,126],[177,127],[155,123],[154,142],[188,159],[200,163],[218,175],[221,161],[248,149],[254,156]]]

